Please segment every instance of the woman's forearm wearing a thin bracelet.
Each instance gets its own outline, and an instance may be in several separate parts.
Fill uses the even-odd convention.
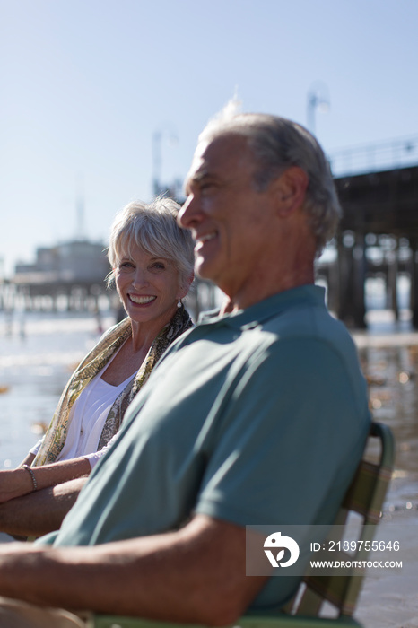
[[[23,460],[22,465],[30,464],[26,462],[29,457]],[[90,473],[91,465],[86,458],[73,458],[71,460],[54,462],[43,467],[30,467],[30,471],[22,466],[10,471],[0,471],[0,503],[32,493],[34,490],[39,491],[49,486],[62,484],[76,477],[90,475]],[[31,474],[35,478],[36,489]]]

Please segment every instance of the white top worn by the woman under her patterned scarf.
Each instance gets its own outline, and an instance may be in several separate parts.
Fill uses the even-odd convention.
[[[103,371],[108,366],[109,362],[102,371],[91,379],[74,402],[68,417],[69,427],[65,444],[56,458],[57,462],[83,456],[89,460],[91,468],[93,468],[117,436],[115,434],[103,449],[97,451],[101,432],[110,408],[122,390],[126,388],[129,381],[135,377],[136,373],[130,375],[118,386],[112,386],[101,379]],[[30,449],[30,453],[36,455],[41,443],[42,439]]]

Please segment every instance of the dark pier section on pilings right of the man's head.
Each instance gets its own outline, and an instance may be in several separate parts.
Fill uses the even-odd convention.
[[[343,206],[337,257],[327,270],[328,295],[338,318],[365,327],[365,281],[384,275],[388,301],[398,316],[399,274],[411,283],[412,322],[418,328],[418,166],[335,179]],[[381,259],[372,261],[371,249]],[[319,270],[320,272],[320,270]]]

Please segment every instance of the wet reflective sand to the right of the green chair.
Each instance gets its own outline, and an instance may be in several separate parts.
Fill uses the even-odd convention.
[[[388,321],[386,321],[388,322]],[[418,628],[418,333],[388,332],[381,320],[374,333],[354,333],[370,383],[375,420],[396,439],[396,460],[376,538],[399,540],[402,570],[366,576],[354,616],[365,628]],[[382,554],[384,555],[384,554]],[[377,556],[381,558],[382,556]]]

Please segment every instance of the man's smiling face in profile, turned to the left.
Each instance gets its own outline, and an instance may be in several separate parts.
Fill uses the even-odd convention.
[[[231,298],[257,281],[272,226],[272,194],[255,190],[254,171],[245,137],[221,135],[199,144],[179,214],[196,240],[196,272]]]

